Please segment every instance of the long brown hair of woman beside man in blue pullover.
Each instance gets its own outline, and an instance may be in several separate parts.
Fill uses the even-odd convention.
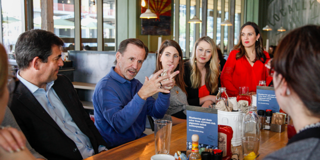
[[[158,55],[156,57],[156,64],[155,64],[155,70],[153,73],[159,71],[162,69],[162,63],[160,62],[160,58],[161,58],[161,55],[163,53],[163,50],[168,47],[168,46],[173,46],[179,53],[179,63],[178,65],[176,66],[176,68],[174,69],[174,71],[176,70],[179,70],[179,73],[175,76],[174,80],[175,80],[175,84],[180,87],[180,89],[186,93],[185,91],[185,83],[184,83],[184,80],[183,80],[183,74],[184,74],[184,67],[183,67],[183,61],[182,61],[182,50],[181,50],[181,47],[180,45],[174,41],[174,40],[164,40],[162,43],[161,43],[161,46],[160,46],[160,49],[159,49],[159,52],[158,52]]]

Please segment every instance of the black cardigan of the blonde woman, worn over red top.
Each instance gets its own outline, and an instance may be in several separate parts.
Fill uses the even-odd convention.
[[[191,87],[191,68],[190,68],[190,62],[186,61],[184,64],[184,75],[183,80],[186,84],[185,91],[187,94],[187,101],[189,105],[194,106],[200,106],[200,100],[199,100],[199,89],[198,88],[192,88]],[[218,87],[221,87],[220,82],[220,75],[218,76]],[[216,95],[218,93],[218,90],[216,90],[214,93],[210,93],[210,95]]]

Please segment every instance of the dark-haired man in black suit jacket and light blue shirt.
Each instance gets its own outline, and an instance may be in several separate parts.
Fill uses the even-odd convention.
[[[47,159],[84,159],[106,150],[71,81],[57,74],[62,39],[32,29],[15,44],[20,80],[10,109],[30,145]]]

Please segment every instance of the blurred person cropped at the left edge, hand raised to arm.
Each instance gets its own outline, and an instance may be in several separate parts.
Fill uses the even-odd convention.
[[[11,111],[6,106],[9,101],[9,94],[11,94],[7,89],[7,81],[7,54],[4,47],[0,44],[0,159],[35,159],[27,149],[31,149],[30,145],[26,142],[23,133],[18,130],[18,125],[16,124]],[[9,87],[13,87],[13,90],[14,83],[15,82],[9,85]],[[8,126],[8,124],[12,127]],[[43,156],[39,155],[34,150],[31,149],[31,151],[33,151],[32,153],[39,157],[39,159],[44,159]]]

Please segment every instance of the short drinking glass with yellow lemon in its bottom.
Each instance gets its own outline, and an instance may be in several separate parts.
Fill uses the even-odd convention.
[[[248,156],[245,159],[255,159],[259,150],[259,138],[253,136],[243,136],[242,140],[242,156]]]

